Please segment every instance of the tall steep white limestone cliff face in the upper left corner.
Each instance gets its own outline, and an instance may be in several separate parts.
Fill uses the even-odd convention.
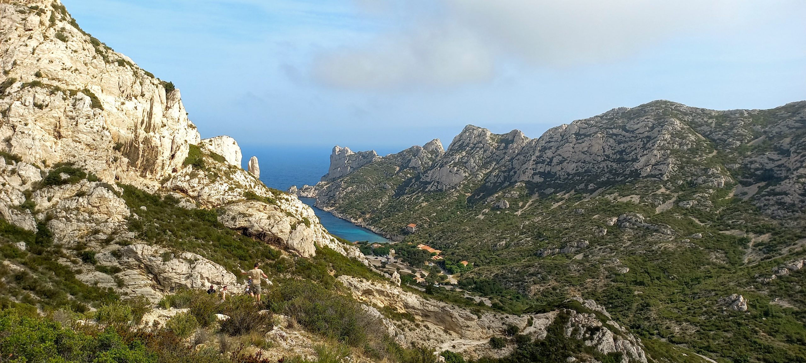
[[[0,146],[39,167],[72,162],[104,181],[155,191],[199,142],[179,90],[94,45],[51,3],[0,4],[0,79],[10,84],[0,95]]]

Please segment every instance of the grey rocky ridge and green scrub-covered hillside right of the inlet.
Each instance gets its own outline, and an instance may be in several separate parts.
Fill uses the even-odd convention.
[[[472,262],[459,285],[503,311],[582,296],[706,356],[797,361],[804,140],[806,101],[729,111],[653,101],[540,138],[467,126],[447,151],[413,146],[355,164],[337,147],[330,173],[347,175],[297,192],[402,240],[409,262],[424,262],[410,252],[419,243],[448,265]],[[733,338],[743,325],[750,343]]]

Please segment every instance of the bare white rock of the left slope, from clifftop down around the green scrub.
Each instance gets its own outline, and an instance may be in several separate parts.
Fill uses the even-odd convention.
[[[302,257],[317,246],[363,257],[296,196],[244,171],[233,138],[202,140],[179,89],[81,30],[60,2],[0,3],[0,37],[0,216],[52,234],[79,280],[150,299],[236,283],[239,270],[143,244],[130,226],[146,207],[127,204],[119,185],[218,210],[219,224]],[[97,257],[76,258],[87,251]]]

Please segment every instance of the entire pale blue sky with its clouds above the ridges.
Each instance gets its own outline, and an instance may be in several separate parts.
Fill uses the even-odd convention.
[[[615,107],[806,100],[803,0],[62,0],[202,138],[401,150]],[[325,153],[326,155],[326,153]]]

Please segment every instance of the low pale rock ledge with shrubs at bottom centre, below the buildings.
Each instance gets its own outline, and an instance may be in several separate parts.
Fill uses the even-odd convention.
[[[438,350],[450,349],[461,352],[467,357],[501,357],[509,353],[508,349],[489,349],[489,345],[486,344],[493,336],[506,336],[505,331],[509,325],[516,326],[523,335],[545,339],[548,327],[555,322],[561,312],[513,316],[485,311],[477,315],[449,303],[423,299],[419,295],[386,283],[370,282],[347,275],[339,276],[338,279],[361,303],[388,307],[414,316],[417,324],[380,317],[384,324],[391,325],[390,336],[398,342],[422,344]],[[580,299],[580,301],[585,307],[600,311],[609,317],[605,308],[593,300]],[[574,339],[583,340],[584,344],[594,347],[600,353],[618,352],[626,358],[625,361],[646,363],[646,353],[641,341],[613,320],[603,323],[591,313],[580,313],[570,309],[564,309],[562,312],[568,316],[564,329],[566,336],[571,337],[573,334]]]

